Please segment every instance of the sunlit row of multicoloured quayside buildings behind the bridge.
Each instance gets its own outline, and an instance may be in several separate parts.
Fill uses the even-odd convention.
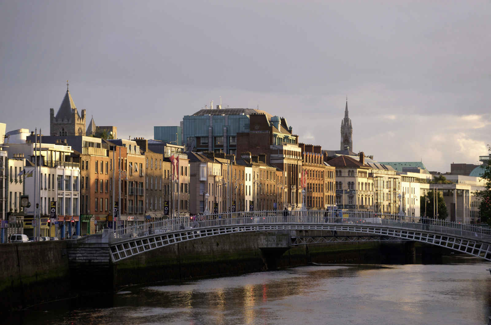
[[[348,103],[340,150],[299,142],[284,117],[259,109],[201,109],[180,126],[154,127],[155,139],[120,139],[93,117],[85,128],[85,118],[67,88],[56,114],[50,109],[50,135],[5,133],[0,123],[1,242],[14,233],[67,238],[196,214],[296,210],[302,202],[417,218],[431,191],[443,195],[449,220],[479,221],[479,177],[451,174],[433,184],[422,163],[401,168],[353,152]]]

